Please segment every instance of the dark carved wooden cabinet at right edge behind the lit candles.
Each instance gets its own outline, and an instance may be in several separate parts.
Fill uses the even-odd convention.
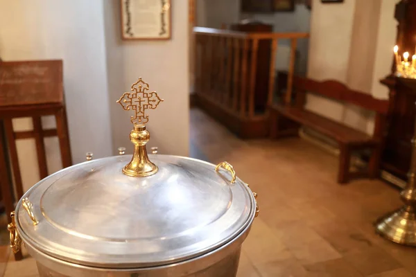
[[[396,5],[397,45],[399,54],[408,51],[415,54],[416,48],[416,0],[402,0]],[[394,57],[392,55],[392,61]],[[392,64],[392,75],[381,80],[393,96],[392,114],[390,116],[385,150],[381,166],[384,170],[407,180],[410,168],[411,139],[415,129],[416,116],[416,80],[396,78],[395,62]]]

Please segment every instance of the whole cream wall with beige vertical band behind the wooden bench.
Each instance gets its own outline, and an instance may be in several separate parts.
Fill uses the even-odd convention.
[[[379,84],[379,80],[390,73],[396,34],[394,6],[398,0],[380,1],[381,7],[374,10],[372,6],[379,3],[363,5],[361,0],[345,0],[344,3],[323,4],[319,0],[313,0],[309,78],[338,80],[352,89],[360,89],[376,98],[387,97],[387,89]],[[369,19],[365,12],[358,10],[357,14],[357,8],[370,9],[367,12],[375,12],[376,15],[372,14],[371,22],[367,22]],[[360,33],[354,33],[353,36],[354,24],[355,28],[365,30],[361,29]],[[363,27],[363,24],[366,25]],[[369,39],[371,31],[377,35]],[[365,48],[364,51],[359,47],[360,44]],[[371,63],[371,66],[365,62]],[[354,72],[363,69],[362,66],[366,66],[365,71],[361,74]],[[363,74],[367,77],[363,78]],[[318,96],[309,95],[307,101],[306,107],[312,111],[352,125],[368,134],[373,132],[372,114]]]

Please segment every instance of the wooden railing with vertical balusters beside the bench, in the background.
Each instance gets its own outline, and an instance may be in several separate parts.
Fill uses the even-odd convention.
[[[308,33],[243,33],[203,27],[193,28],[193,33],[196,40],[194,89],[198,97],[231,111],[239,118],[254,117],[259,41],[268,39],[272,44],[267,91],[267,103],[270,104],[278,40],[291,39],[286,101],[291,99],[297,39],[309,37]]]

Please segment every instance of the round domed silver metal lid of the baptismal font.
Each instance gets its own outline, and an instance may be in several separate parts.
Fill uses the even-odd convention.
[[[21,239],[32,249],[78,265],[143,268],[215,251],[241,235],[256,213],[243,181],[211,163],[150,155],[157,174],[123,175],[131,155],[80,163],[24,195],[39,224],[17,205]]]

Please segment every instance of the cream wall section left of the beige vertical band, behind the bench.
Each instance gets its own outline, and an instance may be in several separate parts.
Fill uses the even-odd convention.
[[[322,4],[320,0],[313,0],[309,39],[309,78],[347,82],[354,7],[355,0],[333,4]],[[306,107],[334,120],[343,118],[343,105],[318,96],[309,95]]]

